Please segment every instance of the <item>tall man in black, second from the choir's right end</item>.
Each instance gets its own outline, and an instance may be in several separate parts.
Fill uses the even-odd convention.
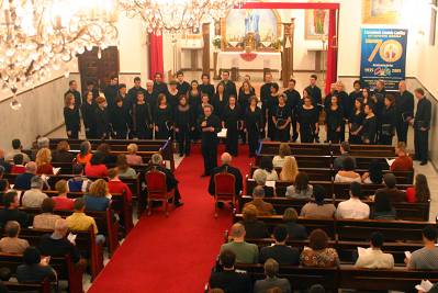
[[[398,83],[398,94],[395,98],[395,111],[397,115],[397,138],[398,142],[407,142],[407,129],[414,116],[414,94],[406,89],[404,80]]]

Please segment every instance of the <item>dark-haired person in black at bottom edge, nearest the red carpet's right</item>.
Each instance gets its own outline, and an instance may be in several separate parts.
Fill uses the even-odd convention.
[[[226,293],[251,293],[252,282],[246,273],[238,273],[234,269],[236,253],[224,249],[220,256],[220,269],[212,272],[210,288],[222,289]]]

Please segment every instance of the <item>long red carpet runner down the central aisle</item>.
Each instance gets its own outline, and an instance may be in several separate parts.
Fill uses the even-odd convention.
[[[233,165],[245,177],[249,162],[244,146]],[[143,216],[88,292],[203,292],[231,212],[225,209],[214,218],[209,178],[200,178],[202,170],[200,148],[194,147],[176,171],[184,205],[168,218],[160,210]]]

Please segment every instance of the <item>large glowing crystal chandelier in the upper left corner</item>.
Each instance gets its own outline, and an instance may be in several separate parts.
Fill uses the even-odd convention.
[[[15,94],[75,55],[106,48],[117,37],[116,11],[116,0],[0,0],[2,88]]]

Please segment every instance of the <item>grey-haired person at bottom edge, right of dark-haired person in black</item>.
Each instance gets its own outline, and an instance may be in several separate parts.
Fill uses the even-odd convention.
[[[296,251],[297,252],[297,251]],[[280,262],[280,264],[282,264]],[[291,284],[288,279],[278,278],[279,262],[269,258],[265,262],[265,280],[257,280],[254,284],[254,293],[266,293],[273,288],[279,288],[282,293],[291,293]]]

